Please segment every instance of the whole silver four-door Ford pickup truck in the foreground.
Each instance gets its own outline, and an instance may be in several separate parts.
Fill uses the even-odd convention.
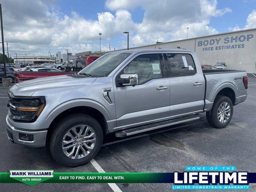
[[[11,142],[47,146],[54,159],[79,166],[99,152],[109,133],[126,137],[197,120],[224,128],[247,97],[245,71],[202,71],[189,50],[124,50],[78,72],[20,82],[10,88]]]

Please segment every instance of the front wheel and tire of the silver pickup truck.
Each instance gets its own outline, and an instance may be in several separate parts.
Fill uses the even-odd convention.
[[[64,166],[76,167],[86,164],[87,162],[92,160],[92,158],[94,158],[96,154],[98,154],[103,142],[103,131],[102,127],[96,119],[86,114],[71,114],[60,119],[60,121],[58,121],[55,125],[56,127],[54,127],[54,129],[50,133],[49,148],[50,153],[52,154],[52,157],[56,160],[56,162]],[[82,132],[82,134],[84,135],[80,137],[81,139],[74,136],[76,134],[73,130],[75,130],[76,132],[80,132],[84,125],[86,125],[88,129],[90,129],[90,131],[88,131],[88,134],[91,135],[94,132],[94,143],[86,143],[86,145],[84,144],[84,142],[86,141],[93,140],[93,137],[88,138],[88,140],[87,138],[83,139],[85,141],[82,142],[82,138],[86,137],[86,127],[84,128],[84,130],[86,131]],[[73,129],[70,130],[71,128]],[[70,134],[73,134],[73,136],[71,135],[71,137],[69,137]],[[71,142],[71,144],[63,145],[64,142]],[[76,144],[74,144],[75,142]],[[73,146],[73,144],[75,147]],[[65,149],[68,148],[66,146],[72,147],[65,151]],[[92,147],[92,149],[90,149],[90,152],[85,146]],[[63,149],[64,147],[65,149]],[[75,149],[74,153],[72,154],[73,148]],[[85,153],[86,150],[88,150],[88,154]],[[78,153],[76,153],[76,151],[78,151]],[[68,154],[72,155],[68,157]],[[76,154],[78,154],[78,156]]]

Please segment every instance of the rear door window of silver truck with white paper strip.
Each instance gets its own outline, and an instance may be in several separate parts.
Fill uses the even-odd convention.
[[[189,76],[196,74],[196,66],[190,54],[165,54],[169,77]]]

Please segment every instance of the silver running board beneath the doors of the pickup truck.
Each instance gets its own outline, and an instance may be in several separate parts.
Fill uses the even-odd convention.
[[[186,116],[186,117],[181,117],[181,118],[176,118],[168,121],[162,121],[154,124],[149,124],[149,125],[144,125],[136,128],[131,128],[131,129],[126,129],[122,131],[115,132],[116,137],[126,137],[138,133],[142,133],[145,131],[150,131],[166,126],[171,126],[171,125],[176,125],[184,122],[189,122],[189,121],[194,121],[198,120],[200,117],[198,115],[193,115],[193,116]]]

